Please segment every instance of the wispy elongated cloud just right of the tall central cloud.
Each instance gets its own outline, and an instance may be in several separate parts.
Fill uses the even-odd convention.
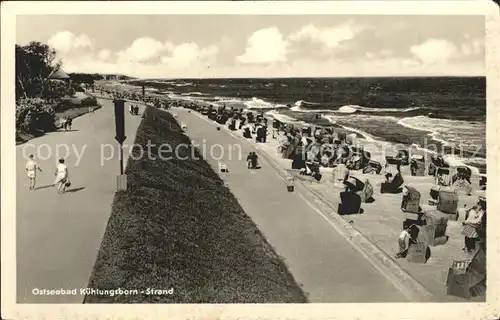
[[[338,47],[343,41],[354,39],[362,30],[364,30],[363,26],[355,25],[352,22],[329,28],[320,28],[309,24],[292,33],[289,39],[291,41],[307,40],[332,49]]]

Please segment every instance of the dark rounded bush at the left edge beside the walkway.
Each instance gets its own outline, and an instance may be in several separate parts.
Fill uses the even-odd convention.
[[[24,99],[16,103],[16,129],[40,134],[54,130],[55,111],[42,99]]]

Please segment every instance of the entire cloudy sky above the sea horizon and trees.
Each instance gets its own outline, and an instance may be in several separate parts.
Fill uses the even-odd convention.
[[[484,76],[484,16],[20,15],[66,72],[138,78]]]

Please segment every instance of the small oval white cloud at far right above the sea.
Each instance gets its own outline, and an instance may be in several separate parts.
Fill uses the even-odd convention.
[[[457,46],[448,40],[428,39],[427,41],[410,47],[410,53],[421,63],[442,64],[457,56]]]

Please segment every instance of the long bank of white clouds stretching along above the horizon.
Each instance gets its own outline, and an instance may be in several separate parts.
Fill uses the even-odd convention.
[[[332,30],[343,31],[333,36]],[[140,78],[484,75],[484,56],[480,56],[484,52],[484,41],[481,39],[461,37],[463,41],[456,43],[428,39],[407,46],[406,55],[384,44],[373,51],[362,51],[365,53],[361,56],[343,59],[336,54],[346,47],[342,41],[353,39],[359,32],[345,30],[340,26],[305,26],[284,36],[276,27],[264,28],[251,34],[240,55],[235,52],[238,42],[227,37],[201,45],[194,41],[174,43],[144,36],[113,50],[99,47],[84,34],[77,36],[65,31],[54,34],[49,42],[57,49],[66,72]],[[318,48],[309,44],[302,46],[306,49],[304,55],[292,54],[304,45],[304,40],[321,44],[319,51],[323,50],[323,54],[318,55]],[[224,58],[225,64],[221,61]]]

